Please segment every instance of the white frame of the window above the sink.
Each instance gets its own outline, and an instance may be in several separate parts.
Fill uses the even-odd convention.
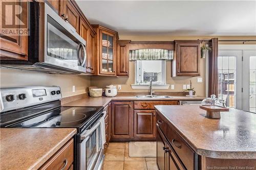
[[[149,85],[150,83],[141,83],[141,81],[143,81],[143,76],[141,76],[141,78],[139,78],[139,75],[143,75],[142,69],[140,69],[142,67],[142,61],[144,60],[136,60],[135,61],[135,85],[136,86],[145,86],[145,85]],[[146,61],[146,60],[145,60]],[[153,60],[152,60],[153,61]],[[161,82],[160,83],[156,83],[156,82],[152,82],[153,86],[163,86],[166,85],[166,70],[165,70],[165,60],[161,60]]]

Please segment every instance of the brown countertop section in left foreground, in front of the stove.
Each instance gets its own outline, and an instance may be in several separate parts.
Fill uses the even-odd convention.
[[[1,128],[0,169],[38,169],[71,139],[75,128]]]

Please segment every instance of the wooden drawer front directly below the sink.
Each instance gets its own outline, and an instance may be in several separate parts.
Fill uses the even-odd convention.
[[[145,109],[145,110],[150,110],[150,109],[155,109],[155,105],[178,105],[178,101],[158,101],[158,102],[134,102],[134,109]]]

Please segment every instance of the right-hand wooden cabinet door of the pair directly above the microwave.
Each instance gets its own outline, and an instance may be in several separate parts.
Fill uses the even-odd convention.
[[[63,1],[63,9],[60,15],[76,29],[76,32],[79,32],[79,12],[71,1]]]

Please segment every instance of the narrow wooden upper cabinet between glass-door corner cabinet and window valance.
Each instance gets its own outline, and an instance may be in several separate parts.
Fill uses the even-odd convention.
[[[131,40],[118,40],[117,44],[117,76],[129,76],[129,43]]]

